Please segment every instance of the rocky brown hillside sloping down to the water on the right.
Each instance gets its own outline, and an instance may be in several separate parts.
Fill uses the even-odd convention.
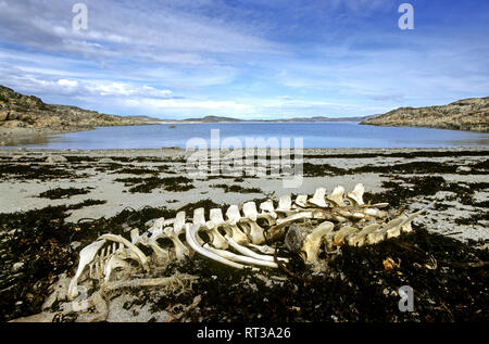
[[[489,132],[489,97],[464,99],[441,106],[400,107],[361,124]]]

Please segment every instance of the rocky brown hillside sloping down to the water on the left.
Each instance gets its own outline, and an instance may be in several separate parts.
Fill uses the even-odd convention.
[[[37,97],[24,95],[0,86],[0,131],[68,132],[103,126],[134,126],[152,124],[147,117],[123,117],[100,114],[76,106],[46,104]],[[18,130],[15,130],[18,131]]]

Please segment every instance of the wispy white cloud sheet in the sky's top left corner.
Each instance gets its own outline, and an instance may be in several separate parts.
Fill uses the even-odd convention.
[[[279,53],[284,48],[249,33],[240,23],[223,23],[198,12],[181,11],[172,1],[141,1],[136,8],[131,1],[84,2],[89,15],[87,30],[72,29],[74,14],[66,1],[13,1],[0,11],[0,37],[38,50],[98,60],[190,65],[216,64],[212,54]]]

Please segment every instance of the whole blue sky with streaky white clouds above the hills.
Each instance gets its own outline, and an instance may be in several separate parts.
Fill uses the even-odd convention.
[[[0,84],[121,115],[372,115],[489,95],[488,23],[486,0],[0,0]]]

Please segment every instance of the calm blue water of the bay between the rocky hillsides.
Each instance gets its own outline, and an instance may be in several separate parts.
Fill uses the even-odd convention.
[[[489,135],[425,128],[363,126],[356,123],[226,123],[168,124],[103,127],[90,131],[48,137],[42,142],[24,142],[36,149],[160,149],[185,148],[190,138],[208,143],[211,129],[220,129],[220,139],[303,138],[304,148],[447,148],[489,146]]]

